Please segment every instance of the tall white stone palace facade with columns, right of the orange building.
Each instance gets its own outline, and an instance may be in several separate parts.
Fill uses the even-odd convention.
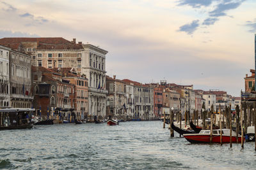
[[[82,74],[88,78],[88,113],[106,116],[106,50],[90,44],[83,45]]]

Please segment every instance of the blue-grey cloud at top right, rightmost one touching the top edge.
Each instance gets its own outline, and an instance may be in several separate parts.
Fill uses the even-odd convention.
[[[218,4],[216,6],[215,10],[210,11],[209,15],[211,17],[225,16],[225,15],[227,15],[227,13],[225,13],[225,11],[234,10],[237,7],[239,7],[243,2],[244,2],[244,0],[237,1],[237,2],[224,1],[224,3]]]

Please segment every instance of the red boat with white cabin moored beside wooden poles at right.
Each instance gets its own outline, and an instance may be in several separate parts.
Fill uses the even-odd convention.
[[[210,143],[210,130],[202,130],[198,134],[183,134],[190,143]],[[244,139],[243,139],[244,140]],[[222,129],[222,143],[230,142],[230,129]],[[241,143],[241,135],[238,134]],[[220,129],[212,131],[212,143],[220,143]],[[236,132],[232,131],[232,143],[236,143]]]

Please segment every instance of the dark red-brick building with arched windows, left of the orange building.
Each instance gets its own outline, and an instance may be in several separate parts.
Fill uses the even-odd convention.
[[[75,85],[63,79],[61,73],[45,67],[32,66],[32,71],[33,106],[37,115],[71,121],[75,110]]]

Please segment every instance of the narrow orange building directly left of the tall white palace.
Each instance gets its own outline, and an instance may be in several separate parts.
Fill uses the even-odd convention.
[[[84,118],[88,117],[88,79],[77,74],[76,69],[70,67],[51,70],[60,73],[63,80],[75,85],[74,112],[77,120],[83,119],[81,115],[84,115]]]

